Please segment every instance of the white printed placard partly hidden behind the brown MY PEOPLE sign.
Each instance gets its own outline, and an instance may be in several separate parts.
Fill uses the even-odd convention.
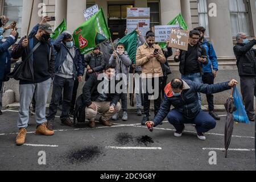
[[[179,25],[155,26],[155,42],[166,42],[170,39],[172,28],[179,28]]]

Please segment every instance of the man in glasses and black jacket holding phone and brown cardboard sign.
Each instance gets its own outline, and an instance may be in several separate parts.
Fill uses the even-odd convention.
[[[199,42],[200,32],[192,30],[189,32],[188,51],[175,52],[175,62],[180,62],[180,73],[183,80],[202,82],[203,65],[208,64],[205,48]],[[202,105],[201,94],[198,93],[199,105]]]

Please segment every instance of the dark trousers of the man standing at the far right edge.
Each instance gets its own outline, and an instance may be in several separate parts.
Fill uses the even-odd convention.
[[[256,97],[256,77],[240,77],[241,93],[247,115],[254,116],[254,96]]]

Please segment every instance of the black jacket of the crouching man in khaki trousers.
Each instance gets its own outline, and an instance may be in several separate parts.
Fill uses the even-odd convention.
[[[104,78],[103,78],[104,79]],[[86,107],[89,107],[92,102],[96,101],[97,98],[100,96],[100,93],[98,93],[98,85],[103,81],[98,80],[97,73],[93,73],[88,81],[86,81],[84,88],[82,88],[82,102]],[[117,82],[115,82],[115,86],[117,85]],[[109,83],[109,86],[111,84]],[[110,88],[109,88],[110,90]],[[108,96],[108,100],[110,101],[110,105],[117,105],[117,102],[119,101],[119,94],[118,93],[110,93],[106,94]]]

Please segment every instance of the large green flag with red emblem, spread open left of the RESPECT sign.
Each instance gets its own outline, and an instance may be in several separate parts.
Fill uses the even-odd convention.
[[[92,18],[77,27],[73,38],[82,55],[86,55],[98,44],[108,40],[110,32],[103,10],[100,9]]]

